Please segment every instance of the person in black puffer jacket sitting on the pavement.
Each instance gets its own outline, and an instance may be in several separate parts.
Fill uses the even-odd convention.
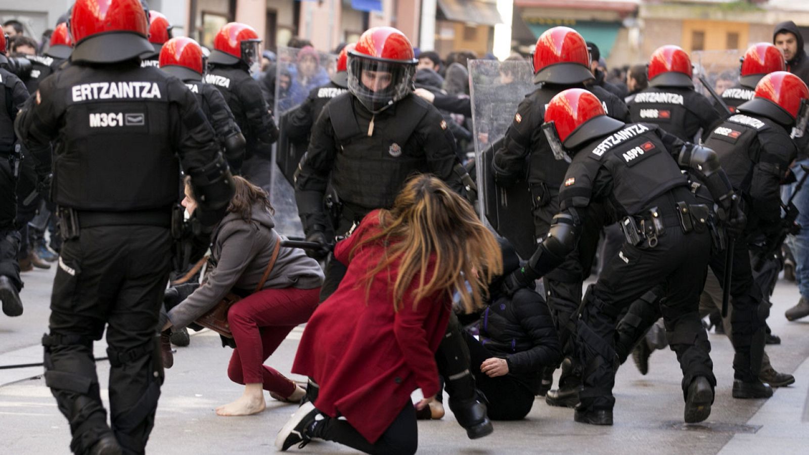
[[[523,419],[539,393],[544,367],[561,356],[557,330],[548,304],[532,287],[512,296],[502,292],[502,279],[519,269],[519,257],[500,240],[503,274],[489,286],[491,300],[480,321],[480,341],[464,331],[472,355],[477,388],[488,400],[489,419]]]

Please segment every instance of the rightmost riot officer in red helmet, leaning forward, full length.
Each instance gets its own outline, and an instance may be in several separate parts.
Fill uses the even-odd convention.
[[[752,247],[756,237],[765,239],[765,251],[781,247],[773,244],[782,240],[784,228],[780,185],[798,155],[790,132],[796,128],[801,136],[806,130],[809,89],[798,76],[776,71],[765,75],[756,85],[753,99],[736,110],[705,142],[716,151],[748,217],[748,228],[735,238],[732,263],[733,397],[769,398],[773,390],[759,378],[769,305],[762,304],[764,290],[753,282],[750,257],[751,252],[756,253]],[[717,277],[723,276],[725,266],[723,257],[711,262]]]

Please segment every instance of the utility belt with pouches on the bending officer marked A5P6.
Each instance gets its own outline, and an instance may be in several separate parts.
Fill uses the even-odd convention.
[[[630,245],[646,242],[649,248],[654,248],[667,229],[680,228],[686,234],[705,232],[709,223],[710,210],[705,204],[677,202],[673,211],[664,213],[655,206],[639,215],[625,216],[621,219],[621,230]]]

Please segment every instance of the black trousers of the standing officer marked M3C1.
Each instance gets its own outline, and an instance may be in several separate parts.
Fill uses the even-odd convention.
[[[145,453],[163,383],[155,330],[171,243],[168,228],[127,225],[82,228],[62,246],[43,337],[44,376],[70,423],[74,453],[109,432],[124,453]],[[92,353],[105,327],[112,427]]]

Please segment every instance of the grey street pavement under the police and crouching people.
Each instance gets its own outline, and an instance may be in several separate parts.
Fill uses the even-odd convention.
[[[2,369],[4,365],[42,361],[40,338],[47,330],[53,274],[53,269],[23,274],[25,313],[13,319],[0,315],[0,453],[69,453],[70,430],[44,386],[42,367]],[[442,420],[418,423],[419,453],[809,453],[809,318],[789,322],[783,316],[797,300],[794,283],[780,281],[769,324],[783,343],[767,351],[773,366],[793,373],[797,381],[777,389],[769,400],[731,398],[731,343],[725,336],[712,333],[711,357],[718,386],[713,412],[704,423],[683,423],[679,365],[672,351],[656,351],[648,375],[637,372],[631,360],[618,372],[612,427],[575,423],[573,410],[547,406],[540,397],[527,419],[495,422],[491,436],[468,440],[447,409]],[[294,330],[267,363],[289,372],[301,333],[300,327]],[[96,343],[95,355],[104,356],[105,348],[103,340]],[[206,330],[192,335],[190,347],[177,349],[174,367],[167,370],[148,453],[275,451],[276,432],[294,412],[294,405],[267,396],[267,410],[259,415],[219,417],[214,413],[216,406],[233,401],[242,392],[242,386],[227,378],[230,354],[218,336]],[[97,365],[104,385],[109,364],[99,360]],[[106,401],[106,388],[102,397]],[[413,398],[420,398],[420,394],[414,393]],[[328,442],[290,451],[352,452]]]

